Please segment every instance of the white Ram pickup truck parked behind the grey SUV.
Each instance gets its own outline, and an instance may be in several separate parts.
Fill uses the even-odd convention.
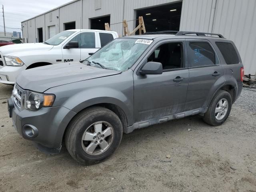
[[[14,84],[23,70],[88,58],[102,46],[118,38],[104,30],[66,30],[43,43],[6,45],[0,48],[0,83]]]

